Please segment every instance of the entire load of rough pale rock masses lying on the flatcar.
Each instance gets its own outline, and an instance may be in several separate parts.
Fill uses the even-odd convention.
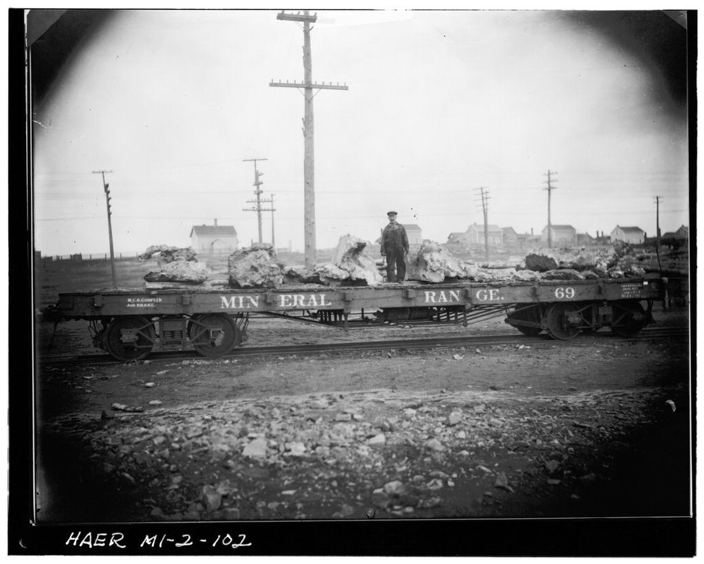
[[[144,276],[148,283],[207,283],[230,288],[278,288],[280,286],[377,286],[384,282],[379,261],[365,249],[369,242],[346,234],[339,239],[332,259],[315,269],[286,266],[277,260],[268,243],[254,243],[227,259],[227,280],[209,281],[206,265],[198,262],[191,248],[152,245],[142,259],[156,258],[158,271]],[[517,264],[480,265],[455,257],[434,241],[425,241],[408,260],[408,281],[439,284],[458,281],[511,282],[538,280],[589,280],[634,278],[646,269],[631,245],[617,242],[605,249],[534,248]],[[653,269],[650,269],[653,270]]]

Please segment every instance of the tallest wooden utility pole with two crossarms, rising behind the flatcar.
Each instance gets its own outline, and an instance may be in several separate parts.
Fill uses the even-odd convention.
[[[314,84],[312,62],[310,57],[310,24],[318,20],[318,14],[309,15],[308,10],[296,14],[277,13],[277,20],[289,22],[303,22],[303,82],[274,82],[269,86],[282,86],[284,88],[303,88],[305,101],[305,117],[303,117],[303,215],[306,223],[305,246],[306,268],[315,268],[315,164],[313,151],[313,89],[348,90],[346,85],[340,86],[329,82],[328,84]],[[279,79],[280,80],[280,79]]]

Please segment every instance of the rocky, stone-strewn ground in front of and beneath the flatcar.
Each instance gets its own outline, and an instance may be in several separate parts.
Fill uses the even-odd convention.
[[[681,339],[40,363],[37,390],[44,523],[690,512]]]

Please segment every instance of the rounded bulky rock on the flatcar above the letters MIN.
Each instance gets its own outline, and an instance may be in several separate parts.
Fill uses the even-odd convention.
[[[254,243],[227,259],[231,288],[277,288],[284,281],[284,267],[268,243]]]

